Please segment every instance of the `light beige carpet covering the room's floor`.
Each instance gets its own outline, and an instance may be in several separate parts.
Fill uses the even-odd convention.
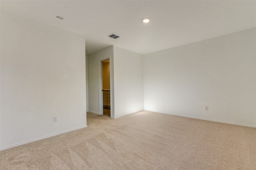
[[[256,170],[256,128],[149,111],[0,152],[1,170]]]

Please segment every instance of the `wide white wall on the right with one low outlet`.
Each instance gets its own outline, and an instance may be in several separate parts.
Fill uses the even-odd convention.
[[[256,126],[255,47],[253,28],[144,55],[144,109]]]

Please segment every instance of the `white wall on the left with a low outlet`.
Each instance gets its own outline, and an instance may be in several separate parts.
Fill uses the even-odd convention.
[[[3,10],[0,30],[1,149],[86,127],[85,38]]]

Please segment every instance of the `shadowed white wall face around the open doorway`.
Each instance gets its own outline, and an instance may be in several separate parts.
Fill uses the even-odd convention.
[[[99,61],[110,58],[110,65],[113,65],[113,46],[102,49],[96,53],[88,55],[88,102],[89,111],[92,113],[100,113],[99,106]],[[110,66],[111,67],[111,66]],[[110,72],[114,75],[114,68],[110,68]],[[114,78],[114,77],[113,77]],[[114,96],[114,82],[110,82],[111,97]],[[114,98],[111,98],[113,101]],[[113,106],[112,106],[113,104]],[[102,105],[103,107],[103,105]],[[111,107],[114,103],[111,102]],[[112,110],[113,111],[113,110]],[[112,112],[114,115],[114,111]]]

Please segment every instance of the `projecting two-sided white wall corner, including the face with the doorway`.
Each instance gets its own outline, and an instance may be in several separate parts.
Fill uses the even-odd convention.
[[[142,55],[111,46],[88,56],[89,111],[99,114],[99,60],[110,57],[112,117],[143,110]],[[113,90],[114,89],[114,90]]]

